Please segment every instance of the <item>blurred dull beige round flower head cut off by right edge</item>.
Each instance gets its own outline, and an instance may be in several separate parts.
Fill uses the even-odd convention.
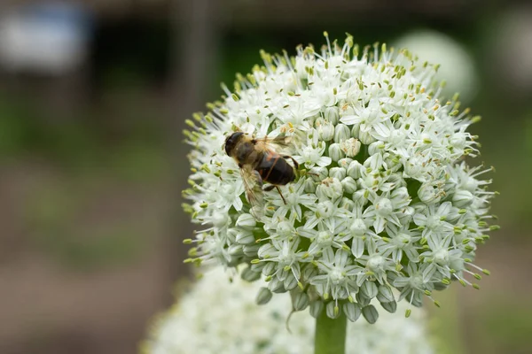
[[[532,5],[513,7],[496,26],[489,49],[494,67],[490,73],[512,94],[530,95],[532,90]]]

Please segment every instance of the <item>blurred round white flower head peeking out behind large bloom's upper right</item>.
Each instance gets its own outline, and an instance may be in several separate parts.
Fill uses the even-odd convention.
[[[470,101],[477,90],[478,77],[471,55],[456,40],[434,30],[417,30],[393,42],[396,48],[408,48],[420,61],[438,63],[435,75],[438,81],[446,81],[443,95],[460,93],[462,101]]]

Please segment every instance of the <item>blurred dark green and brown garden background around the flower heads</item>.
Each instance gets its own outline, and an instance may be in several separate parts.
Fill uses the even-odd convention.
[[[431,31],[460,46],[447,51],[461,62],[438,53],[443,44],[426,52],[483,118],[475,163],[497,168],[502,229],[478,252],[492,275],[480,292],[457,284],[442,294],[433,330],[439,352],[530,352],[527,3],[2,1],[0,353],[136,352],[187,273],[184,119],[258,63],[260,49],[293,53],[324,42],[324,30],[361,44]]]

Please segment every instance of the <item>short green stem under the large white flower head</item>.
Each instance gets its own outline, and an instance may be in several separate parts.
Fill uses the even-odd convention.
[[[344,354],[348,318],[340,312],[337,319],[329,319],[324,311],[316,319],[314,354]]]

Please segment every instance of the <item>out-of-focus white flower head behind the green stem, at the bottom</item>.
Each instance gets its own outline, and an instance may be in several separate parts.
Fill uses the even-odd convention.
[[[235,279],[218,268],[208,271],[192,290],[156,319],[145,354],[299,354],[313,351],[315,321],[291,311],[287,294],[268,306],[254,297],[261,281]],[[423,312],[410,319],[388,314],[379,323],[348,324],[346,353],[429,354],[434,350],[425,331]],[[290,332],[288,331],[290,329]]]

